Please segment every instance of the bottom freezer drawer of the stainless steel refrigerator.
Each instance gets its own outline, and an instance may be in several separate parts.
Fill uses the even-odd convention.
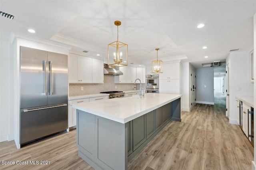
[[[20,109],[20,143],[22,145],[68,129],[67,105],[34,111],[25,109],[25,111]]]

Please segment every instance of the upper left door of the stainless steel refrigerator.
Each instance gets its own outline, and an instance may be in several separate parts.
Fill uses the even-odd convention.
[[[20,47],[20,108],[47,105],[47,51]]]

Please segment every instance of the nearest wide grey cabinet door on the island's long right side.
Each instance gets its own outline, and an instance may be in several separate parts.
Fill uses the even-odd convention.
[[[146,141],[146,119],[142,115],[132,120],[132,134],[133,134],[133,151],[136,150],[144,141]]]

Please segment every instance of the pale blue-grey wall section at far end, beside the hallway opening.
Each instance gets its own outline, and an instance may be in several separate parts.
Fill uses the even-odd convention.
[[[196,103],[214,104],[213,67],[196,68]]]

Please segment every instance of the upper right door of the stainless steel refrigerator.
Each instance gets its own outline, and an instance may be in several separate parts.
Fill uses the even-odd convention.
[[[68,56],[48,53],[48,105],[68,103]]]

